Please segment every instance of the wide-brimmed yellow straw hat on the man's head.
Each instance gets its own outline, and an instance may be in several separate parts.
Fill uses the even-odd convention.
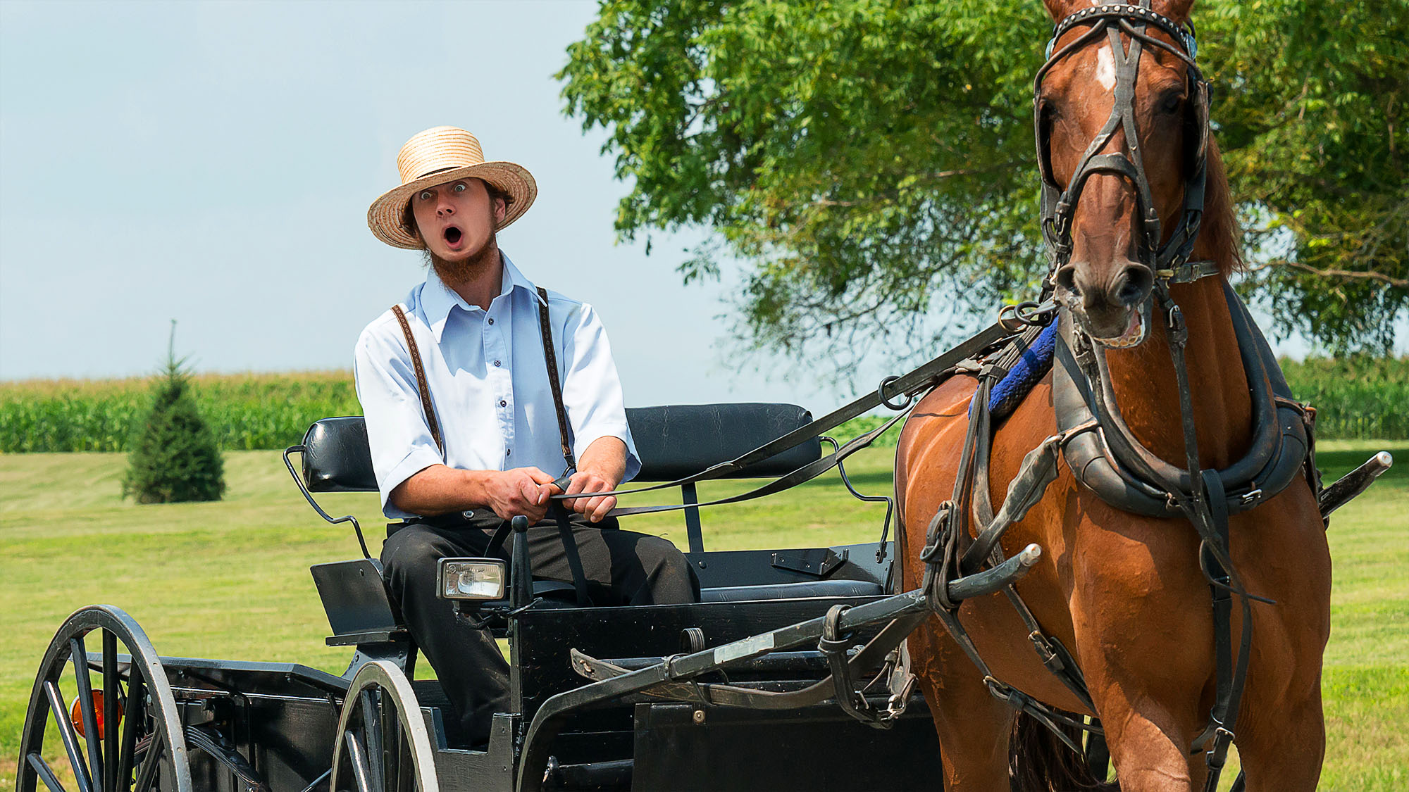
[[[509,193],[513,200],[496,231],[519,220],[538,197],[533,173],[513,162],[485,162],[475,135],[457,127],[433,127],[416,134],[396,155],[396,166],[402,172],[402,186],[372,202],[366,224],[378,240],[397,248],[424,247],[416,230],[403,225],[402,220],[411,196],[426,187],[475,178]]]

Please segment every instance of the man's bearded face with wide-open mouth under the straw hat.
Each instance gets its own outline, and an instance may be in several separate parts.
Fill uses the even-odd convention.
[[[447,262],[479,255],[504,218],[504,204],[479,179],[427,187],[411,196],[411,214],[426,247]]]

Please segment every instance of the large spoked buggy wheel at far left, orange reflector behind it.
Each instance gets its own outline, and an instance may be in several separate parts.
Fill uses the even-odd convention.
[[[85,638],[97,638],[100,657]],[[66,757],[66,765],[51,765],[54,757]],[[15,789],[34,792],[42,782],[61,792],[66,781],[79,792],[192,791],[166,671],[147,633],[111,605],[82,607],[63,621],[30,695]]]

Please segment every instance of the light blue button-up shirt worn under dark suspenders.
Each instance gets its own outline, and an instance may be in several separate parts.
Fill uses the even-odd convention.
[[[387,496],[431,465],[466,471],[535,466],[555,478],[564,472],[538,327],[541,300],[509,256],[502,258],[503,289],[488,311],[447,287],[434,269],[402,303],[426,368],[444,458],[421,413],[416,368],[396,314],[387,310],[358,337],[356,395],[387,517],[411,516]],[[573,455],[581,458],[602,437],[619,437],[627,447],[623,481],[635,476],[641,462],[602,321],[592,306],[557,292],[548,292],[548,317]]]

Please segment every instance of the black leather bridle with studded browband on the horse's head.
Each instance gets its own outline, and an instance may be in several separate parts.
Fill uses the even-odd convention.
[[[1064,18],[1047,42],[1047,62],[1037,70],[1033,79],[1033,127],[1037,138],[1037,163],[1041,172],[1043,200],[1041,200],[1041,228],[1047,242],[1050,259],[1050,275],[1067,265],[1072,251],[1072,216],[1076,211],[1076,202],[1086,186],[1086,180],[1095,173],[1113,173],[1130,180],[1136,187],[1137,213],[1141,233],[1137,238],[1140,262],[1148,266],[1157,279],[1164,282],[1186,282],[1198,276],[1209,275],[1199,269],[1188,268],[1186,262],[1193,249],[1193,241],[1199,235],[1199,223],[1203,217],[1203,187],[1208,173],[1208,137],[1209,137],[1209,83],[1195,63],[1198,42],[1193,27],[1185,28],[1169,17],[1158,14],[1148,7],[1150,0],[1143,0],[1140,6],[1105,4],[1082,8]],[[1089,24],[1091,30],[1081,34],[1075,41],[1053,51],[1057,39],[1076,25]],[[1154,25],[1169,34],[1178,44],[1171,45],[1151,37],[1146,30]],[[1061,62],[1067,55],[1079,51],[1091,41],[1105,32],[1110,42],[1110,55],[1115,62],[1116,86],[1115,101],[1106,124],[1091,140],[1081,162],[1062,190],[1057,185],[1053,173],[1051,152],[1048,148],[1047,124],[1043,113],[1041,85],[1043,78]],[[1130,37],[1130,51],[1126,52],[1120,41],[1120,34]],[[1158,47],[1174,54],[1184,61],[1188,73],[1188,104],[1192,109],[1192,118],[1186,117],[1185,124],[1192,134],[1192,144],[1186,144],[1189,166],[1185,168],[1184,180],[1184,211],[1169,240],[1160,244],[1161,227],[1160,213],[1154,206],[1150,192],[1150,179],[1146,176],[1144,158],[1140,155],[1138,135],[1134,121],[1136,80],[1140,70],[1140,54],[1144,45]],[[1129,141],[1129,155],[1126,152],[1096,154],[1110,142],[1117,130],[1124,130]],[[1189,140],[1189,138],[1186,138]]]

